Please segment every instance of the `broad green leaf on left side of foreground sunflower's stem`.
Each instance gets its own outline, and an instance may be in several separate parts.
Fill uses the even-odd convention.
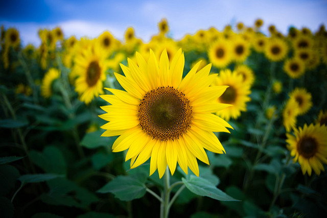
[[[100,193],[111,192],[122,201],[141,198],[146,193],[146,186],[141,181],[129,176],[118,176],[98,190]]]

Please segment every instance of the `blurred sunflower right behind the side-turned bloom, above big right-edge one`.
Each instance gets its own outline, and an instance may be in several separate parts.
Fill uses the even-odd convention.
[[[291,99],[294,99],[298,104],[298,115],[303,115],[312,107],[311,93],[305,88],[295,88],[290,94]]]

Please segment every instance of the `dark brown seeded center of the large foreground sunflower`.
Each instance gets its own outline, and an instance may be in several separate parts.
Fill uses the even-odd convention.
[[[138,105],[141,128],[161,141],[179,138],[192,123],[192,106],[185,94],[173,87],[148,91]]]

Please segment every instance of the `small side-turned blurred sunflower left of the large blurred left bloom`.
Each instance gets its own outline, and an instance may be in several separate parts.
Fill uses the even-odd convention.
[[[48,72],[45,73],[42,84],[41,84],[41,95],[44,98],[50,98],[53,93],[54,81],[60,77],[60,71],[56,68],[50,68]]]

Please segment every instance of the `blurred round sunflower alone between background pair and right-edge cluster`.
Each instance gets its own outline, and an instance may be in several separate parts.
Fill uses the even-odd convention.
[[[281,61],[288,52],[286,42],[280,38],[270,38],[267,41],[265,55],[270,61]]]

